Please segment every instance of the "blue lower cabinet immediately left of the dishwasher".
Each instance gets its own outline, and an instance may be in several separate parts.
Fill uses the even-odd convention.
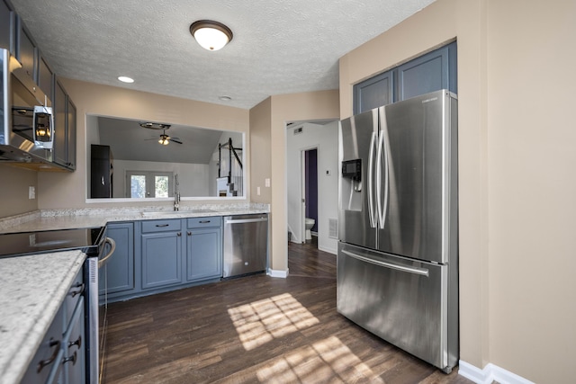
[[[222,218],[187,220],[186,280],[202,281],[222,276]]]

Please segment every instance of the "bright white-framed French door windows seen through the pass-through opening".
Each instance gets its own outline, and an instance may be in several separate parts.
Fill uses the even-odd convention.
[[[149,198],[174,196],[172,172],[126,171],[126,197]]]

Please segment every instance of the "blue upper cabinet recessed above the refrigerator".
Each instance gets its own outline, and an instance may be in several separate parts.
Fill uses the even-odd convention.
[[[354,113],[439,89],[458,92],[456,42],[355,85]]]

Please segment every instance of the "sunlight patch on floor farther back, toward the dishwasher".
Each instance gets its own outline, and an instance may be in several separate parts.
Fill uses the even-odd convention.
[[[319,323],[290,293],[229,308],[228,314],[247,351]]]

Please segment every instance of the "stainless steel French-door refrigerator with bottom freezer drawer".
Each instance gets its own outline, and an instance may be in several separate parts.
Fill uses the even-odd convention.
[[[338,312],[450,372],[458,362],[457,98],[340,122]]]

